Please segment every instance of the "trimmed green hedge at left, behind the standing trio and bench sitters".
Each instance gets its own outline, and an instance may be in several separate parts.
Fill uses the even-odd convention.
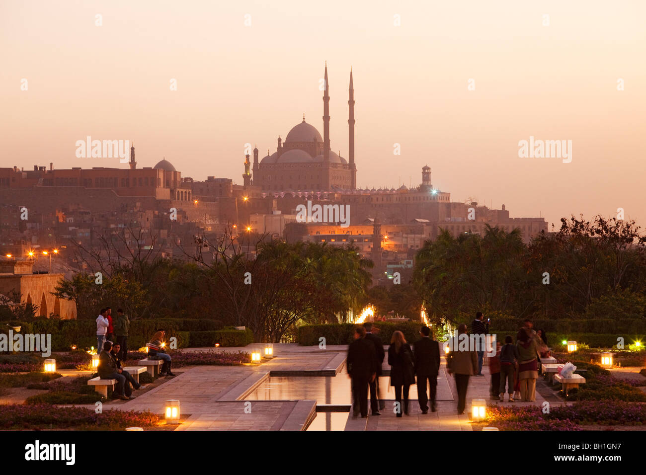
[[[21,332],[51,333],[52,351],[62,352],[70,349],[72,344],[78,348],[96,346],[96,322],[93,320],[55,320],[42,319],[21,324]],[[135,320],[130,322],[128,337],[129,348],[141,348],[150,341],[158,328],[165,328],[166,338],[177,338],[177,348],[188,346],[246,346],[253,343],[253,332],[224,328],[216,320],[164,319]],[[8,328],[0,329],[8,333]]]

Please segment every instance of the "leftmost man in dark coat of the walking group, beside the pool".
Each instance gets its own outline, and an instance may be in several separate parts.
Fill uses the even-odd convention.
[[[375,344],[366,340],[366,330],[355,328],[355,341],[348,348],[348,374],[352,378],[354,416],[359,405],[361,417],[368,417],[368,384],[377,377],[377,350]]]

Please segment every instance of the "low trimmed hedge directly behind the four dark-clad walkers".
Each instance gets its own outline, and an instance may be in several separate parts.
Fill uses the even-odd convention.
[[[319,338],[324,337],[326,344],[350,344],[354,339],[355,328],[353,323],[332,323],[324,325],[303,325],[298,327],[297,341],[302,346],[311,346],[319,343]],[[415,343],[420,339],[420,322],[375,322],[379,333],[375,333],[383,344],[390,344],[395,330],[404,333],[408,343]]]

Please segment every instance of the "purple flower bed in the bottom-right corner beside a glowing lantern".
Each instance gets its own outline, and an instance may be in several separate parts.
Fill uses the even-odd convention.
[[[489,406],[485,424],[499,430],[582,430],[579,425],[643,425],[646,404],[613,401],[604,405],[578,402],[552,406],[543,414],[539,406]]]

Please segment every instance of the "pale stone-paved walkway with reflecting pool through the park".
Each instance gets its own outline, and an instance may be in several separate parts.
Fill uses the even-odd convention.
[[[250,347],[187,348],[184,351],[238,350],[248,352]],[[347,346],[328,345],[322,350],[318,346],[275,344],[274,351],[275,358],[263,360],[266,363],[260,365],[178,368],[174,370],[178,375],[162,385],[131,401],[109,403],[105,409],[151,410],[163,414],[165,401],[178,399],[182,414],[190,416],[176,430],[303,430],[315,417],[326,417],[325,412],[316,412],[317,405],[322,408],[332,403],[340,406],[337,410],[347,411],[335,416],[347,419],[345,430],[472,430],[469,421],[472,399],[486,399],[487,404],[541,405],[546,398],[539,391],[548,400],[553,398],[547,387],[541,389],[539,379],[534,403],[492,401],[489,397],[490,375],[488,366],[485,366],[485,376],[470,378],[466,411],[458,416],[455,381],[446,373],[446,363],[442,358],[437,412],[429,410],[428,414],[421,413],[417,389],[413,385],[410,388],[410,415],[395,417],[394,391],[386,375],[380,379],[380,394],[386,401],[381,416],[355,418],[351,416],[349,407],[351,396],[345,369]],[[390,370],[386,362],[384,370],[387,374]],[[298,383],[290,386],[282,385],[280,381]],[[335,388],[329,388],[331,383]]]

